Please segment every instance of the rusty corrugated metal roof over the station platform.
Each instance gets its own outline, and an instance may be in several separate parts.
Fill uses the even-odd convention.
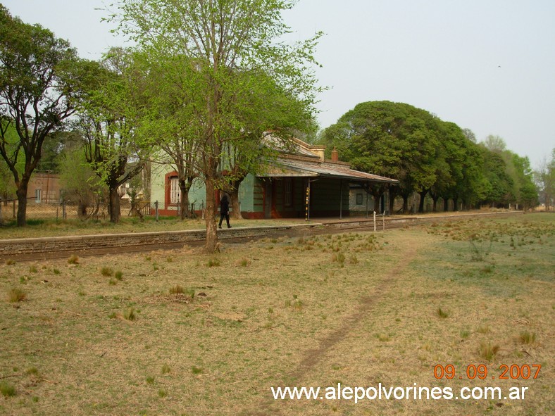
[[[294,160],[289,158],[278,158],[270,162],[273,169],[260,176],[263,177],[335,177],[337,179],[349,179],[353,181],[381,182],[396,184],[397,179],[372,175],[349,169],[345,165],[330,162],[309,162],[308,160]]]

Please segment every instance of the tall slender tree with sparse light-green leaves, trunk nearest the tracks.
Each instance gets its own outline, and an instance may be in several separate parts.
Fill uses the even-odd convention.
[[[120,4],[120,30],[134,39],[146,53],[165,61],[185,56],[192,65],[194,82],[187,84],[192,99],[186,106],[191,116],[188,128],[197,134],[194,164],[206,187],[206,251],[217,247],[215,189],[225,181],[226,145],[235,151],[254,152],[244,146],[252,133],[237,108],[258,93],[256,85],[244,83],[243,73],[252,70],[270,74],[289,96],[313,111],[316,78],[309,66],[320,36],[288,45],[280,42],[289,30],[282,11],[289,0],[130,0]],[[264,130],[273,126],[268,122]],[[277,135],[280,133],[278,132]],[[252,157],[249,157],[251,159]]]

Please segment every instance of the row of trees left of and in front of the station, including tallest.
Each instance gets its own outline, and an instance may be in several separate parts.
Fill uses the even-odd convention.
[[[61,130],[82,138],[89,168],[108,188],[111,220],[118,187],[144,160],[171,163],[187,215],[192,179],[233,194],[268,156],[263,134],[287,141],[313,126],[316,78],[309,69],[320,34],[286,44],[288,0],[130,0],[111,20],[137,44],[101,62],[26,25],[0,5],[0,155],[13,175],[25,225],[27,185],[45,142]],[[206,215],[206,249],[216,224]]]

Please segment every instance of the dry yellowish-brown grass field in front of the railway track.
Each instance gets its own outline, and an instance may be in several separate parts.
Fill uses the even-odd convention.
[[[0,265],[1,415],[553,415],[555,216]],[[454,379],[435,379],[436,365]],[[469,380],[468,365],[486,365]],[[542,365],[499,379],[501,365]],[[459,379],[463,377],[462,379]],[[495,379],[492,379],[495,377]],[[524,400],[278,400],[274,386]]]

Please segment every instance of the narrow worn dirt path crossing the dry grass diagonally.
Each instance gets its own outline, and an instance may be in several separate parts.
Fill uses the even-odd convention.
[[[416,248],[410,244],[406,247],[400,247],[399,249],[404,250],[403,255],[397,261],[397,265],[385,277],[383,277],[381,282],[379,282],[375,291],[373,291],[372,296],[362,296],[354,312],[343,321],[341,327],[338,327],[334,332],[322,339],[318,348],[305,351],[301,362],[297,365],[297,368],[295,368],[292,372],[285,374],[283,377],[284,380],[292,380],[292,382],[283,382],[281,386],[302,386],[302,380],[306,374],[313,371],[318,366],[320,361],[322,361],[326,355],[328,355],[328,353],[335,348],[335,346],[344,341],[349,334],[355,332],[361,321],[374,312],[375,305],[387,296],[392,284],[394,284],[397,279],[402,277],[406,267],[416,257]],[[275,384],[275,386],[277,387],[278,384]],[[263,392],[263,397],[262,402],[258,403],[256,410],[247,410],[246,412],[241,413],[241,415],[280,416],[284,414],[283,410],[278,408],[280,401],[275,401],[273,397],[271,397],[270,391]]]

